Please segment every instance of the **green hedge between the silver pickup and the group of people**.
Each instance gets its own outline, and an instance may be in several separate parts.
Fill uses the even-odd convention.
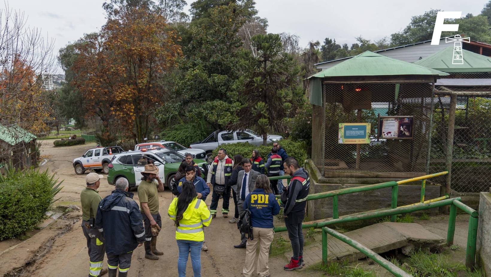
[[[292,156],[299,161],[300,166],[303,165],[305,159],[307,159],[307,150],[305,143],[301,141],[292,141],[290,139],[283,139],[279,141],[279,145],[286,151],[288,156]],[[213,157],[216,157],[218,154],[218,150],[223,148],[227,151],[227,154],[230,158],[233,159],[234,155],[241,154],[243,157],[250,158],[252,154],[252,150],[257,149],[261,157],[263,157],[264,162],[268,159],[268,154],[271,153],[271,148],[273,144],[269,144],[267,146],[264,145],[253,145],[248,142],[243,143],[231,143],[231,144],[222,144],[217,149],[213,151]]]

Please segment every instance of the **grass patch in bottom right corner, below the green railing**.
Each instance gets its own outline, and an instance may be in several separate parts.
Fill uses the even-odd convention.
[[[396,258],[389,261],[416,277],[484,277],[482,271],[470,271],[463,264],[451,261],[444,253],[426,253],[419,249],[412,252],[404,264]]]

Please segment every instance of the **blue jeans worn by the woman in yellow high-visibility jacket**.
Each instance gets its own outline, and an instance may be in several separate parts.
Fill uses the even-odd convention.
[[[203,242],[177,240],[179,258],[177,259],[177,272],[179,277],[186,277],[186,264],[191,248],[191,264],[194,277],[201,277],[201,246]]]

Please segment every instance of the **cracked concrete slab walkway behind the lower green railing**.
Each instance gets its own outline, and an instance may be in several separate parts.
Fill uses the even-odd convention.
[[[423,226],[417,223],[396,223],[382,222],[366,226],[344,235],[367,246],[376,253],[387,252],[392,249],[408,246],[411,242],[418,242],[419,245],[424,243],[442,243],[445,240],[427,231]],[[293,255],[292,251],[285,253],[287,258]],[[327,236],[327,260],[343,259],[362,259],[366,257],[352,246],[349,246],[340,240]],[[317,242],[303,249],[303,260],[305,267],[316,265],[322,262],[322,242]]]

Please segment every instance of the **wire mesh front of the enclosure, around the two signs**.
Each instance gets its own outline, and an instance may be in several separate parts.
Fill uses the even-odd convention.
[[[324,84],[323,89],[326,124],[321,171],[425,172],[432,84]],[[383,136],[390,139],[380,138],[379,116],[412,121],[397,125],[396,119],[393,133]],[[340,143],[339,123],[370,123],[370,143]]]

